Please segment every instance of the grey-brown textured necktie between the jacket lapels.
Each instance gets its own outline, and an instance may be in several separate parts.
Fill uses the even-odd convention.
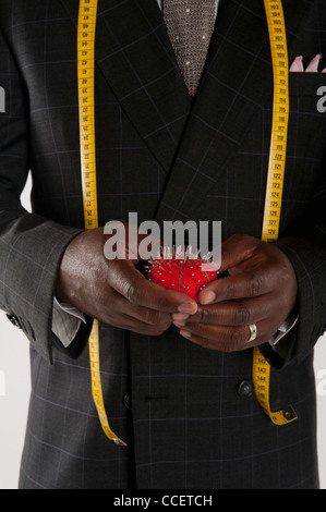
[[[215,25],[216,0],[164,0],[164,17],[189,94],[200,83]]]

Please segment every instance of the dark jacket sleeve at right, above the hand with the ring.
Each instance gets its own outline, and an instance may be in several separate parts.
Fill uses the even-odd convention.
[[[326,154],[326,149],[325,149]],[[300,364],[326,331],[326,158],[306,216],[298,219],[298,237],[285,239],[278,246],[288,256],[298,281],[299,320],[280,342],[280,357],[270,346],[262,352],[276,367]],[[300,234],[304,233],[304,239]]]

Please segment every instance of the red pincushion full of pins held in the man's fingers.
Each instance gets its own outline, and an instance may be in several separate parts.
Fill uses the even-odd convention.
[[[147,277],[167,290],[185,293],[198,302],[200,291],[217,279],[217,272],[200,258],[159,258],[149,266]]]

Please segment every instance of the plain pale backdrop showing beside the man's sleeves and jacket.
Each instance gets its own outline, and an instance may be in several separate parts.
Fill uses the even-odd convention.
[[[31,180],[22,195],[29,204]],[[27,419],[29,355],[25,336],[0,314],[0,489],[17,489]],[[315,349],[321,488],[326,489],[326,334]]]

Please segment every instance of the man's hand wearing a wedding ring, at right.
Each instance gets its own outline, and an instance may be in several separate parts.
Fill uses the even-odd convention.
[[[266,343],[293,310],[298,285],[287,256],[274,244],[237,234],[221,245],[220,272],[205,287],[194,315],[173,315],[180,334],[206,349],[233,352]],[[257,338],[250,339],[249,325]]]

